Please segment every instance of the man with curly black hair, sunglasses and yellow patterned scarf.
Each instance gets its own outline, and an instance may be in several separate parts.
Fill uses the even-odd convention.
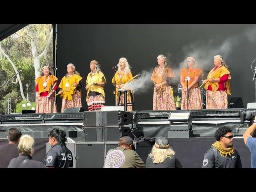
[[[240,155],[233,146],[232,130],[223,126],[215,132],[216,142],[204,154],[202,168],[242,168]]]

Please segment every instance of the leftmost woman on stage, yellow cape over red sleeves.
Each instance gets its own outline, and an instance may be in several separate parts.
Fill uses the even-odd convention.
[[[57,90],[56,76],[50,72],[50,67],[42,67],[42,75],[36,78],[36,113],[56,113],[54,93]],[[52,106],[53,105],[53,106]]]

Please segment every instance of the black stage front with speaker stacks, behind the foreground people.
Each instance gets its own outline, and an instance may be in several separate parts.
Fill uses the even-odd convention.
[[[35,138],[34,159],[43,162],[46,156],[48,133],[53,128],[67,133],[68,148],[74,154],[76,168],[102,168],[109,149],[115,148],[120,136],[134,138],[136,151],[146,163],[152,144],[138,138],[168,137],[171,112],[190,112],[193,136],[169,137],[170,146],[185,168],[200,168],[204,153],[215,142],[214,132],[220,126],[230,126],[234,134],[234,147],[240,153],[244,168],[250,168],[250,151],[242,134],[251,120],[244,115],[256,115],[256,110],[171,110],[171,111],[104,111],[55,114],[6,114],[0,116],[0,145],[7,143],[7,132],[16,127],[22,134]],[[243,113],[242,113],[243,112]],[[252,119],[253,120],[253,119]],[[178,124],[186,124],[181,122]],[[137,140],[137,141],[136,141]],[[88,158],[87,154],[90,154]]]

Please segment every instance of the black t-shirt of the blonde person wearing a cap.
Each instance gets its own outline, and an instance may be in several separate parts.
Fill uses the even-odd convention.
[[[175,156],[167,157],[162,163],[153,163],[153,160],[148,156],[146,160],[146,168],[182,168],[180,161]]]

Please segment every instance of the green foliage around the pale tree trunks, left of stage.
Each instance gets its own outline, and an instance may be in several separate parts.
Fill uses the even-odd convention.
[[[28,93],[29,100],[32,102],[35,101],[35,69],[34,59],[32,57],[31,39],[32,37],[36,37],[34,38],[36,50],[38,54],[41,54],[46,48],[46,40],[51,30],[52,24],[30,24],[0,42],[2,50],[4,50],[5,54],[12,60],[17,70],[22,70],[20,79],[23,92],[25,97]],[[40,59],[40,64],[53,66],[52,40],[46,55]],[[15,74],[16,72],[10,62],[2,55],[2,58],[0,58],[0,85],[4,84],[4,82]],[[14,112],[15,105],[22,102],[19,83],[13,82],[16,82],[16,77],[1,88],[0,112],[5,112],[5,98],[7,97],[12,98],[12,112]],[[26,84],[28,84],[28,90]],[[31,106],[29,108],[31,109]],[[22,107],[20,108],[20,112],[21,110]]]

